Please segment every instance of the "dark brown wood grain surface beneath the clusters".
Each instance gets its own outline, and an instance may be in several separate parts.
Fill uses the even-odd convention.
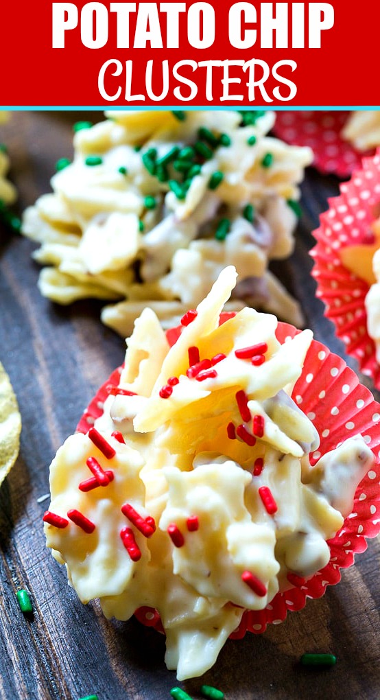
[[[20,211],[49,190],[56,160],[71,155],[71,125],[78,118],[83,113],[20,112],[1,127]],[[92,118],[99,120],[101,113]],[[315,298],[308,255],[318,214],[337,193],[335,178],[310,169],[295,254],[276,269],[302,302],[316,338],[342,355]],[[99,322],[98,302],[62,308],[39,295],[30,241],[5,230],[0,241],[0,361],[10,374],[23,423],[20,456],[0,489],[0,697],[77,700],[97,693],[99,700],[169,699],[177,683],[164,666],[164,637],[135,619],[108,622],[97,603],[78,601],[64,568],[45,548],[41,517],[48,500],[38,503],[48,493],[55,451],[122,361],[124,342]],[[321,600],[308,601],[304,610],[261,636],[248,633],[228,641],[216,666],[183,687],[194,699],[206,682],[223,689],[226,700],[378,700],[379,563],[379,541],[370,540],[356,566]],[[20,587],[31,593],[31,620],[18,608]],[[337,665],[328,671],[304,669],[299,664],[304,652],[333,652]]]

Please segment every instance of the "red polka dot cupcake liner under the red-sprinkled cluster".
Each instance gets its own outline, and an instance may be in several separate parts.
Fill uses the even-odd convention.
[[[226,316],[222,314],[221,322],[226,320]],[[170,344],[176,342],[180,332],[180,329],[168,332]],[[299,332],[288,323],[279,323],[276,335],[279,342],[284,343]],[[87,433],[102,414],[111,388],[119,384],[121,370],[121,367],[115,370],[101,386],[80,419],[78,431]],[[238,629],[231,635],[232,639],[244,637],[246,631],[264,632],[267,624],[283,622],[288,610],[304,608],[307,598],[323,596],[328,585],[339,582],[341,569],[352,566],[355,554],[365,551],[366,538],[374,538],[380,532],[380,404],[359,383],[357,375],[344,360],[316,340],[311,342],[292,397],[314,423],[321,439],[318,451],[310,456],[311,464],[314,465],[325,452],[337,447],[347,437],[358,433],[363,435],[372,449],[376,462],[358,486],[353,511],[346,517],[335,538],[328,541],[331,556],[327,566],[313,577],[299,579],[287,591],[276,594],[265,610],[244,612]],[[135,615],[146,626],[163,631],[157,610],[139,608]]]

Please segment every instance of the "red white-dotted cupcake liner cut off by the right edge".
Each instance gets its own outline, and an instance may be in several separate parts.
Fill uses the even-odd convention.
[[[373,239],[371,226],[379,216],[380,148],[373,158],[363,159],[352,179],[340,186],[340,192],[339,197],[329,200],[329,209],[321,214],[321,225],[313,232],[317,244],[311,251],[315,261],[311,274],[318,285],[316,294],[325,303],[325,316],[335,324],[346,352],[358,360],[360,371],[380,389],[376,348],[367,332],[365,297],[370,287],[342,265],[339,255],[346,246]]]

